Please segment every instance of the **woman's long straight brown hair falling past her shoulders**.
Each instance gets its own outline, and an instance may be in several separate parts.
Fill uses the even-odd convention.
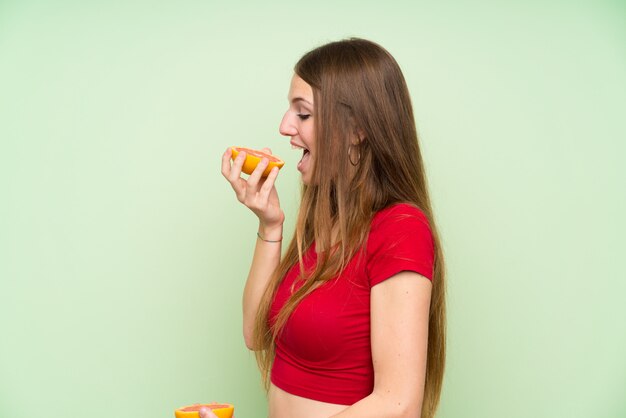
[[[422,418],[431,418],[439,403],[445,365],[444,262],[406,82],[384,48],[357,38],[308,52],[296,64],[295,73],[313,88],[315,164],[310,184],[302,189],[294,236],[256,318],[254,338],[263,381],[269,387],[276,337],[298,303],[343,270],[367,239],[377,211],[410,203],[428,218],[435,244],[422,407]],[[268,315],[276,290],[292,266],[303,265],[303,254],[313,242],[323,249],[318,262],[303,273],[304,284],[270,328]]]

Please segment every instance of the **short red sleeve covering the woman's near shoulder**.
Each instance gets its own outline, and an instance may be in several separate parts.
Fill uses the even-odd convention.
[[[420,209],[402,203],[376,214],[367,243],[370,287],[401,271],[414,271],[432,280],[433,264],[433,236]]]

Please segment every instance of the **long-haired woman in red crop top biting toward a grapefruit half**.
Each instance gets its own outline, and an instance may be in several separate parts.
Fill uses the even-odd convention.
[[[288,101],[280,133],[302,152],[303,188],[282,257],[278,169],[263,179],[264,159],[245,179],[244,153],[222,157],[237,199],[259,218],[243,332],[269,416],[433,417],[443,258],[400,68],[373,42],[333,42],[296,64]]]

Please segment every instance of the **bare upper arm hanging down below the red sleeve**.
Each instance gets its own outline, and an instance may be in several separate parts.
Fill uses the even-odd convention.
[[[402,271],[372,287],[371,339],[374,393],[399,411],[420,416],[432,283]],[[393,403],[391,403],[393,402]]]

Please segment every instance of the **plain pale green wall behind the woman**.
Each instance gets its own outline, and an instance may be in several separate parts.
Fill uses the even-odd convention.
[[[265,416],[220,156],[286,159],[290,233],[292,66],[360,36],[405,72],[447,254],[439,417],[625,417],[626,6],[524,3],[0,1],[0,416]]]

